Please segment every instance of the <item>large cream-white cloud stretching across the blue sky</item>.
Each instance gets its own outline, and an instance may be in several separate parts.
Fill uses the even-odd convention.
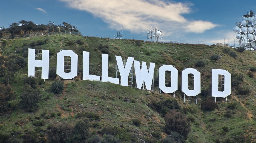
[[[69,7],[87,11],[109,24],[111,29],[134,33],[145,33],[154,27],[164,31],[164,36],[181,32],[203,33],[217,24],[202,20],[190,21],[182,16],[192,11],[192,3],[170,2],[166,0],[60,0]]]

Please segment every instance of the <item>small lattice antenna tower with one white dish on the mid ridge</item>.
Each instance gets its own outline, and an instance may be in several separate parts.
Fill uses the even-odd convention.
[[[152,29],[152,24],[151,24],[151,29]],[[162,42],[162,31],[156,29],[156,21],[155,21],[155,28],[152,30],[147,30],[147,41],[155,41],[158,42],[158,40],[161,39]]]

